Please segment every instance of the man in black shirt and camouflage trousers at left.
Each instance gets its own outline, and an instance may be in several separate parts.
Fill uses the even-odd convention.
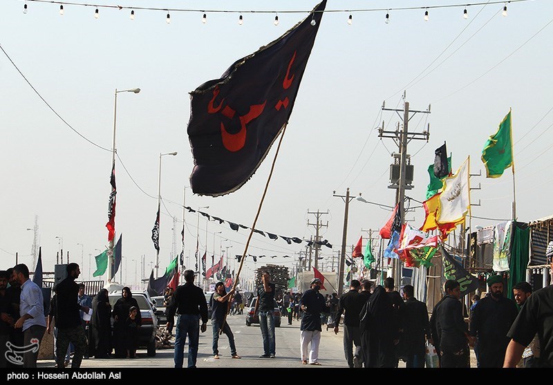
[[[79,305],[79,285],[75,279],[81,274],[77,263],[66,266],[67,277],[57,284],[55,320],[57,327],[56,364],[64,367],[65,353],[70,343],[75,346],[71,368],[81,366],[82,357],[86,353],[86,334],[82,328],[80,310],[88,312],[88,306]]]

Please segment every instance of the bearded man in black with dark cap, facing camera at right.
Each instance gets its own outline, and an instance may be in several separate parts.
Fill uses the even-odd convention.
[[[470,335],[473,343],[478,339],[480,368],[501,368],[509,345],[507,332],[518,311],[514,301],[503,297],[502,276],[490,276],[487,284],[489,294],[471,314]]]

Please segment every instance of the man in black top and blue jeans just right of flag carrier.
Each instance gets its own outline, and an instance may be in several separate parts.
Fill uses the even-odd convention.
[[[255,312],[259,310],[259,328],[263,337],[263,355],[259,358],[274,358],[276,341],[274,339],[274,291],[275,285],[270,282],[268,272],[261,275],[262,285],[257,288]]]

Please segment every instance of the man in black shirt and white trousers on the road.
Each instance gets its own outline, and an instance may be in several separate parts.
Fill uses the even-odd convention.
[[[321,341],[321,313],[327,311],[326,301],[323,294],[319,292],[323,283],[315,278],[310,282],[311,288],[301,296],[301,324],[300,332],[300,353],[301,363],[310,365],[321,365],[319,362],[319,343]],[[310,346],[308,350],[308,346]]]

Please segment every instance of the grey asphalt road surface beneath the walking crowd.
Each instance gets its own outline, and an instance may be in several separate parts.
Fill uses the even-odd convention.
[[[301,364],[299,352],[299,321],[293,321],[292,325],[283,319],[281,327],[276,328],[277,357],[274,359],[259,358],[263,354],[263,341],[259,325],[245,325],[245,315],[234,315],[227,318],[229,326],[234,333],[236,350],[242,359],[232,359],[226,335],[219,338],[220,359],[213,358],[212,327],[208,323],[207,331],[200,333],[198,349],[198,368],[347,368],[344,357],[342,338],[343,330],[340,327],[338,335],[332,329],[323,327],[321,344],[319,348],[319,361],[321,366]],[[185,346],[185,366],[187,365],[188,344]],[[81,368],[173,368],[173,348],[158,349],[155,357],[147,357],[146,350],[138,350],[136,359],[84,359]],[[472,350],[471,350],[472,353]],[[39,360],[39,368],[53,368],[55,362],[52,359]],[[400,361],[400,368],[405,364]],[[476,367],[476,360],[471,357],[471,367]]]

